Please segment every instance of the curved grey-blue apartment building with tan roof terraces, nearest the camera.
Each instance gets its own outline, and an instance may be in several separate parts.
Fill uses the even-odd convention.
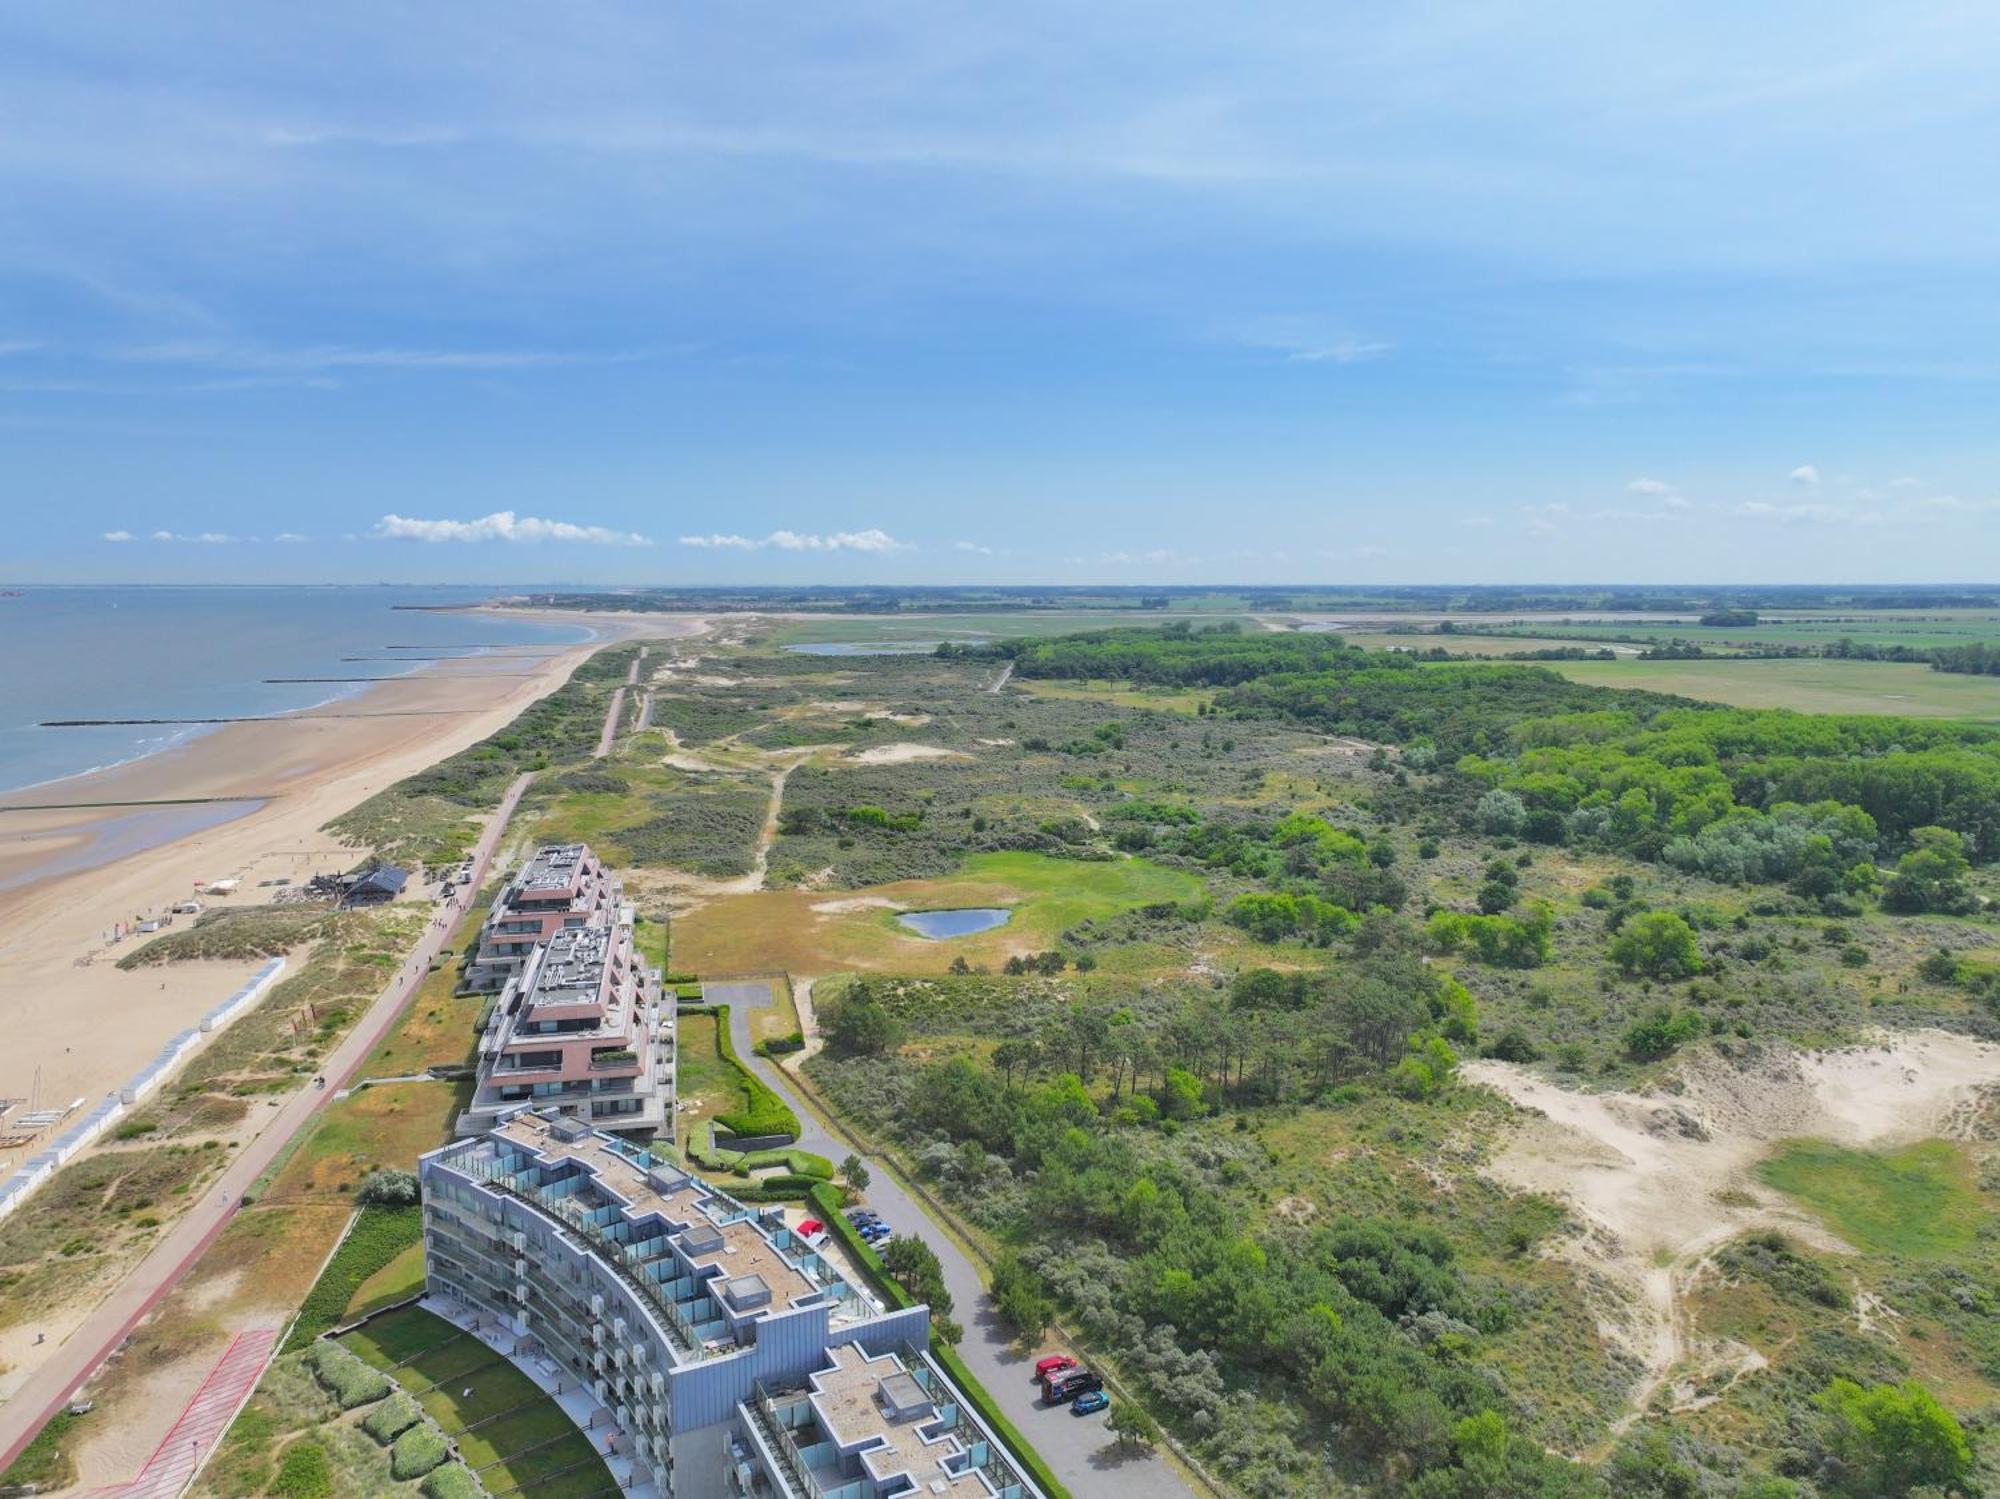
[[[558,1389],[640,1499],[1042,1499],[888,1311],[784,1227],[546,1109],[432,1151],[430,1305]]]

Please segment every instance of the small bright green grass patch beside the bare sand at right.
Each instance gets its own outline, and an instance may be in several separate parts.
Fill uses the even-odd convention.
[[[1972,1163],[1944,1139],[1882,1153],[1794,1139],[1758,1165],[1758,1177],[1868,1253],[1940,1259],[1972,1247],[1990,1217]]]

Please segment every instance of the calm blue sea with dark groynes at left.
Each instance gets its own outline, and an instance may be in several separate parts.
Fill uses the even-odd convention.
[[[244,718],[286,714],[422,662],[342,656],[478,656],[504,644],[588,640],[586,626],[394,606],[476,604],[494,588],[22,588],[0,598],[0,789],[40,785],[156,753],[202,730],[36,728],[48,718]],[[386,646],[422,646],[390,652]]]

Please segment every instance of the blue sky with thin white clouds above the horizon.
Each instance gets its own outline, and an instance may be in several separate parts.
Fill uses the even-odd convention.
[[[0,16],[8,580],[2000,578],[2000,12]]]

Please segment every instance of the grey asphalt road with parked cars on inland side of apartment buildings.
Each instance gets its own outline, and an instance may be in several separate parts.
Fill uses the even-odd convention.
[[[758,1007],[758,995],[746,993],[752,987],[768,1005],[770,991],[764,985],[728,985],[730,1039],[736,1043],[736,1055],[748,1061],[758,1077],[776,1087],[798,1113],[804,1131],[798,1143],[804,1149],[830,1161],[840,1161],[850,1151],[858,1153],[856,1141],[830,1133],[820,1117],[804,1105],[782,1067],[750,1049],[750,1011]],[[992,1301],[986,1297],[986,1283],[966,1251],[930,1221],[928,1211],[904,1189],[888,1165],[870,1159],[868,1177],[864,1193],[868,1207],[878,1211],[898,1233],[916,1233],[938,1251],[944,1285],[966,1327],[966,1341],[958,1345],[966,1367],[978,1375],[1008,1419],[1026,1433],[1042,1461],[1078,1499],[1200,1499],[1204,1491],[1196,1489],[1158,1453],[1120,1453],[1118,1443],[1104,1429],[1102,1415],[1078,1417],[1070,1415],[1068,1407],[1042,1405],[1034,1383],[1036,1355],[1018,1351],[1012,1335],[1000,1327]]]

